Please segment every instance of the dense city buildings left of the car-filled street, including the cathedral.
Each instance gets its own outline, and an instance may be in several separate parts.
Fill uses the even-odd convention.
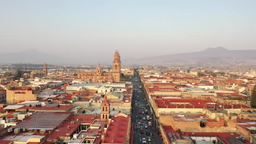
[[[134,71],[118,51],[109,70],[21,71],[1,78],[0,143],[130,143]]]

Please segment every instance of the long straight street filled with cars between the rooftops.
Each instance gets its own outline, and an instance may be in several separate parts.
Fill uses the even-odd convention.
[[[138,73],[131,79],[133,83],[133,98],[132,98],[132,122],[134,123],[133,143],[162,143],[159,136],[159,128],[156,125],[153,109],[148,103],[146,94],[143,88],[140,88]],[[151,124],[150,124],[151,122]],[[151,127],[150,127],[151,126]]]

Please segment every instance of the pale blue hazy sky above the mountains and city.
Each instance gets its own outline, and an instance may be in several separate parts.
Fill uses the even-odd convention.
[[[256,49],[256,1],[0,1],[0,52],[89,59]],[[100,60],[99,60],[100,61]]]

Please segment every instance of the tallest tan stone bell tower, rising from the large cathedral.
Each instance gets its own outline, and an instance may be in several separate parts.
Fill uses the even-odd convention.
[[[121,59],[118,51],[115,51],[112,71],[114,81],[120,81],[121,79]]]

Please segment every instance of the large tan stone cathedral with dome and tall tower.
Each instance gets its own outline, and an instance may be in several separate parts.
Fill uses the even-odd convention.
[[[95,71],[79,71],[78,79],[87,79],[91,82],[115,82],[121,79],[121,60],[119,52],[114,54],[113,70],[103,71],[100,64],[97,65]]]

